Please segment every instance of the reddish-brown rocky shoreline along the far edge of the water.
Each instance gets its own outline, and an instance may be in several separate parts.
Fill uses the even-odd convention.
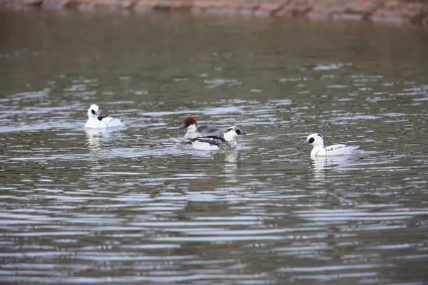
[[[428,0],[0,0],[0,9],[182,9],[198,13],[308,16],[428,26]]]

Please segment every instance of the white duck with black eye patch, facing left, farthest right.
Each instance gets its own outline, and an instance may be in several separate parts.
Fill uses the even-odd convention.
[[[329,145],[324,147],[324,138],[319,133],[313,133],[307,136],[302,145],[312,145],[311,156],[335,156],[335,155],[354,155],[362,153],[359,145]]]

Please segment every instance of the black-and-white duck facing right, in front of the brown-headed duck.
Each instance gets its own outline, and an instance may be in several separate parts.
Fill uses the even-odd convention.
[[[185,145],[195,150],[227,150],[238,146],[235,140],[238,135],[245,135],[245,133],[242,133],[238,127],[232,126],[228,128],[223,137],[209,135],[194,138],[190,142],[185,142]]]

